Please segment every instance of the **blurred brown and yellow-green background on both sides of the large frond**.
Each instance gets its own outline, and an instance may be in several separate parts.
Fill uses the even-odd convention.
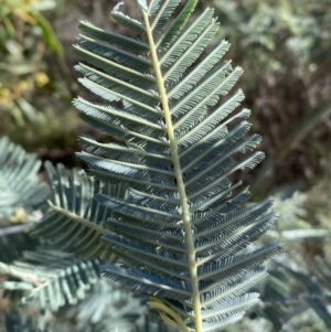
[[[116,30],[110,11],[117,2],[0,1],[0,136],[42,160],[82,167],[76,138],[98,133],[72,106],[75,96],[88,94],[77,84],[72,44],[79,20]],[[295,227],[324,232],[301,236],[293,260],[330,260],[331,0],[203,0],[197,12],[206,6],[221,21],[216,39],[232,44],[227,58],[245,71],[236,88],[253,111],[253,131],[264,138],[266,160],[238,176],[252,184],[255,200],[276,197],[278,234],[286,237]],[[125,7],[135,12],[135,1]],[[293,238],[286,238],[290,248]],[[296,331],[329,331],[302,326]]]

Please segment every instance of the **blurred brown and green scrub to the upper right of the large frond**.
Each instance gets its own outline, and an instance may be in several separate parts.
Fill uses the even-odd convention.
[[[218,38],[233,42],[231,57],[245,69],[244,103],[254,110],[252,121],[264,137],[260,149],[268,159],[252,191],[265,195],[302,180],[311,185],[330,146],[329,1],[206,2],[222,22]]]

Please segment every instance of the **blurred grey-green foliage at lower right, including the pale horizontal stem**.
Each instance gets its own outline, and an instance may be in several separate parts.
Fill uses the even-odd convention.
[[[276,331],[301,331],[314,326],[317,331],[330,330],[330,261],[321,257],[307,257],[305,244],[327,244],[330,231],[312,227],[306,219],[311,204],[307,194],[284,188],[275,197],[280,212],[277,227],[267,238],[280,235],[287,250],[269,267],[270,276],[261,287],[260,314]],[[266,240],[266,238],[264,239]],[[324,324],[324,326],[323,326]],[[319,325],[320,328],[317,328]]]

